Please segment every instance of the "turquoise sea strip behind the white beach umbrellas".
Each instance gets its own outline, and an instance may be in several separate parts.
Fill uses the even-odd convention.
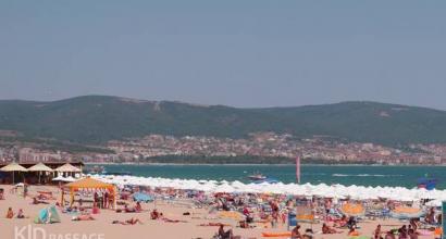
[[[240,180],[260,172],[283,183],[295,183],[294,165],[104,165],[106,171],[129,172],[135,176],[207,180]],[[361,186],[402,186],[413,188],[417,179],[438,179],[438,189],[446,189],[446,166],[320,166],[303,165],[301,181]]]

